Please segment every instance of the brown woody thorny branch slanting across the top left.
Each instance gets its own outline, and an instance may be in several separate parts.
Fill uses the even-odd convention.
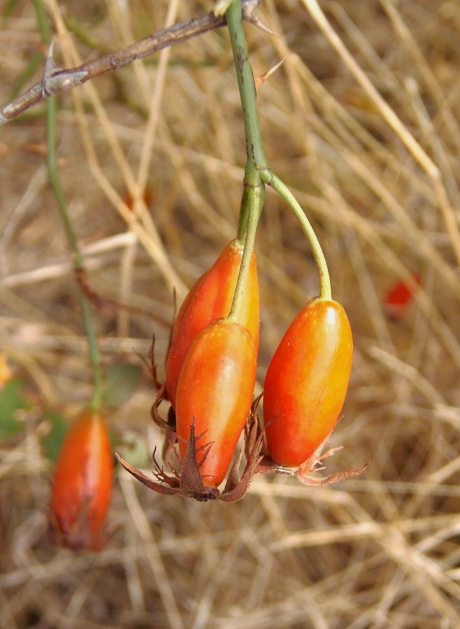
[[[256,15],[259,2],[260,0],[242,0],[243,17],[247,22],[251,22],[257,27],[271,32]],[[203,35],[208,31],[223,27],[225,24],[227,24],[227,21],[223,15],[217,17],[213,13],[206,13],[202,17],[194,17],[192,20],[187,20],[187,22],[173,24],[173,26],[157,31],[129,45],[127,48],[117,52],[110,52],[108,55],[104,55],[95,61],[68,69],[58,68],[52,61],[53,46],[51,45],[42,80],[32,85],[24,94],[17,96],[8,105],[0,108],[0,126],[10,122],[10,120],[13,120],[13,118],[49,96],[69,92],[70,89],[78,87],[78,85],[82,85],[96,76],[122,68],[134,62],[135,59],[143,59],[143,57],[148,57],[148,55],[152,55],[157,50]]]

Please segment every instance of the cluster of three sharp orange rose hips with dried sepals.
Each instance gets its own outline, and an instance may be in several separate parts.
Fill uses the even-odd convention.
[[[217,487],[229,472],[243,428],[248,421],[257,424],[257,405],[253,404],[259,347],[255,254],[238,316],[229,315],[242,256],[243,244],[232,240],[195,282],[173,322],[166,382],[157,400],[171,402],[168,440],[178,443],[182,475],[174,470],[175,475],[168,477],[157,466],[158,484],[120,459],[129,472],[156,491],[167,489],[166,493],[185,493],[199,500],[223,498],[228,491],[221,495]],[[301,472],[301,479],[306,479],[343,406],[352,354],[352,333],[342,306],[323,298],[309,301],[292,321],[268,366],[264,431],[257,431],[259,447],[246,449],[247,457],[253,459],[249,461],[251,475],[258,470],[289,470]],[[154,418],[164,424],[157,406]],[[260,454],[263,433],[268,451],[264,457]],[[195,467],[192,482],[191,465]],[[199,489],[196,470],[201,477]],[[234,498],[242,495],[236,492]]]

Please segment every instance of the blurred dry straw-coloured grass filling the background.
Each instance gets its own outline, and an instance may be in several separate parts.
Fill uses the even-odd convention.
[[[8,3],[3,2],[6,7]],[[282,35],[247,27],[268,160],[308,212],[355,340],[326,488],[261,477],[236,505],[158,496],[117,469],[99,554],[50,546],[52,465],[40,405],[0,443],[0,626],[36,628],[454,628],[460,626],[460,5],[455,0],[264,0]],[[210,2],[45,2],[73,66],[209,10]],[[69,34],[70,32],[70,34]],[[41,49],[32,3],[0,31],[1,102]],[[38,80],[39,70],[26,85]],[[41,405],[69,419],[91,374],[68,247],[46,182],[43,104],[0,131],[0,344]],[[101,295],[172,315],[236,229],[244,138],[227,31],[59,97],[60,173]],[[135,212],[122,197],[148,186]],[[259,384],[294,314],[317,293],[308,246],[268,191],[257,234]],[[382,296],[423,288],[391,320]],[[103,359],[140,362],[142,314],[97,312]],[[161,371],[161,370],[160,370]],[[161,371],[162,373],[162,371]],[[111,417],[159,442],[148,374]],[[150,469],[148,457],[143,468]]]

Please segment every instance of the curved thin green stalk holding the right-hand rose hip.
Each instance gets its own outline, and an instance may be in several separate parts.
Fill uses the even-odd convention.
[[[322,252],[321,245],[319,245],[319,240],[317,239],[315,231],[313,231],[310,221],[306,217],[305,212],[303,212],[299,201],[297,201],[287,185],[268,169],[261,173],[261,177],[268,186],[272,187],[276,192],[278,192],[281,198],[286,201],[301,224],[301,228],[303,229],[303,233],[305,233],[308,243],[310,244],[313,258],[315,259],[318,269],[319,297],[322,299],[331,299],[331,280],[329,278],[329,270],[327,268],[326,259],[324,258],[324,253]]]

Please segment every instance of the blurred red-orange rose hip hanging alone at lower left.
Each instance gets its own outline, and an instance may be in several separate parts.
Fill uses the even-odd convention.
[[[99,547],[112,482],[106,421],[99,412],[85,410],[66,434],[52,482],[52,522],[64,543]]]

